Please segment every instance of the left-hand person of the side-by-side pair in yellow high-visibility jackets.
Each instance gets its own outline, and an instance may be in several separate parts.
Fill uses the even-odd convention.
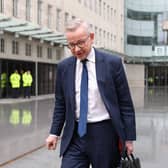
[[[15,70],[14,73],[10,75],[10,83],[12,87],[13,98],[19,97],[20,78],[20,74],[17,70]]]

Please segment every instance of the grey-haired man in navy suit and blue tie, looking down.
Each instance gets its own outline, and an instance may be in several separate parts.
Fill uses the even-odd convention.
[[[61,168],[116,168],[121,150],[131,154],[136,139],[135,112],[121,58],[93,48],[94,33],[85,21],[73,20],[65,35],[73,56],[57,66],[55,108],[46,145],[55,149],[64,129]],[[83,62],[85,92],[81,92]],[[80,117],[85,111],[87,124],[83,122],[81,134]]]

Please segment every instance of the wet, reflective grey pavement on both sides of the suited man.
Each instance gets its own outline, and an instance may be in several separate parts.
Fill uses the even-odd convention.
[[[140,158],[142,168],[166,168],[168,89],[165,91],[158,88],[152,92],[153,95],[149,93],[144,99],[144,106],[136,109],[135,155]],[[48,136],[53,114],[52,98],[7,104],[8,102],[9,100],[0,103],[0,164],[43,144]],[[9,119],[13,109],[20,112],[20,117],[23,117],[25,109],[29,110],[32,122],[29,125],[12,125]],[[44,147],[6,164],[3,168],[60,168],[60,162],[58,145],[55,151],[48,151]]]

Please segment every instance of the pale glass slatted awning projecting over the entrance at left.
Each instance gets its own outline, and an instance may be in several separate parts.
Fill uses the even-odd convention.
[[[16,37],[27,36],[29,40],[35,38],[51,44],[67,45],[66,37],[63,33],[54,32],[28,21],[21,21],[0,14],[0,33],[2,34],[3,32],[14,33]]]

